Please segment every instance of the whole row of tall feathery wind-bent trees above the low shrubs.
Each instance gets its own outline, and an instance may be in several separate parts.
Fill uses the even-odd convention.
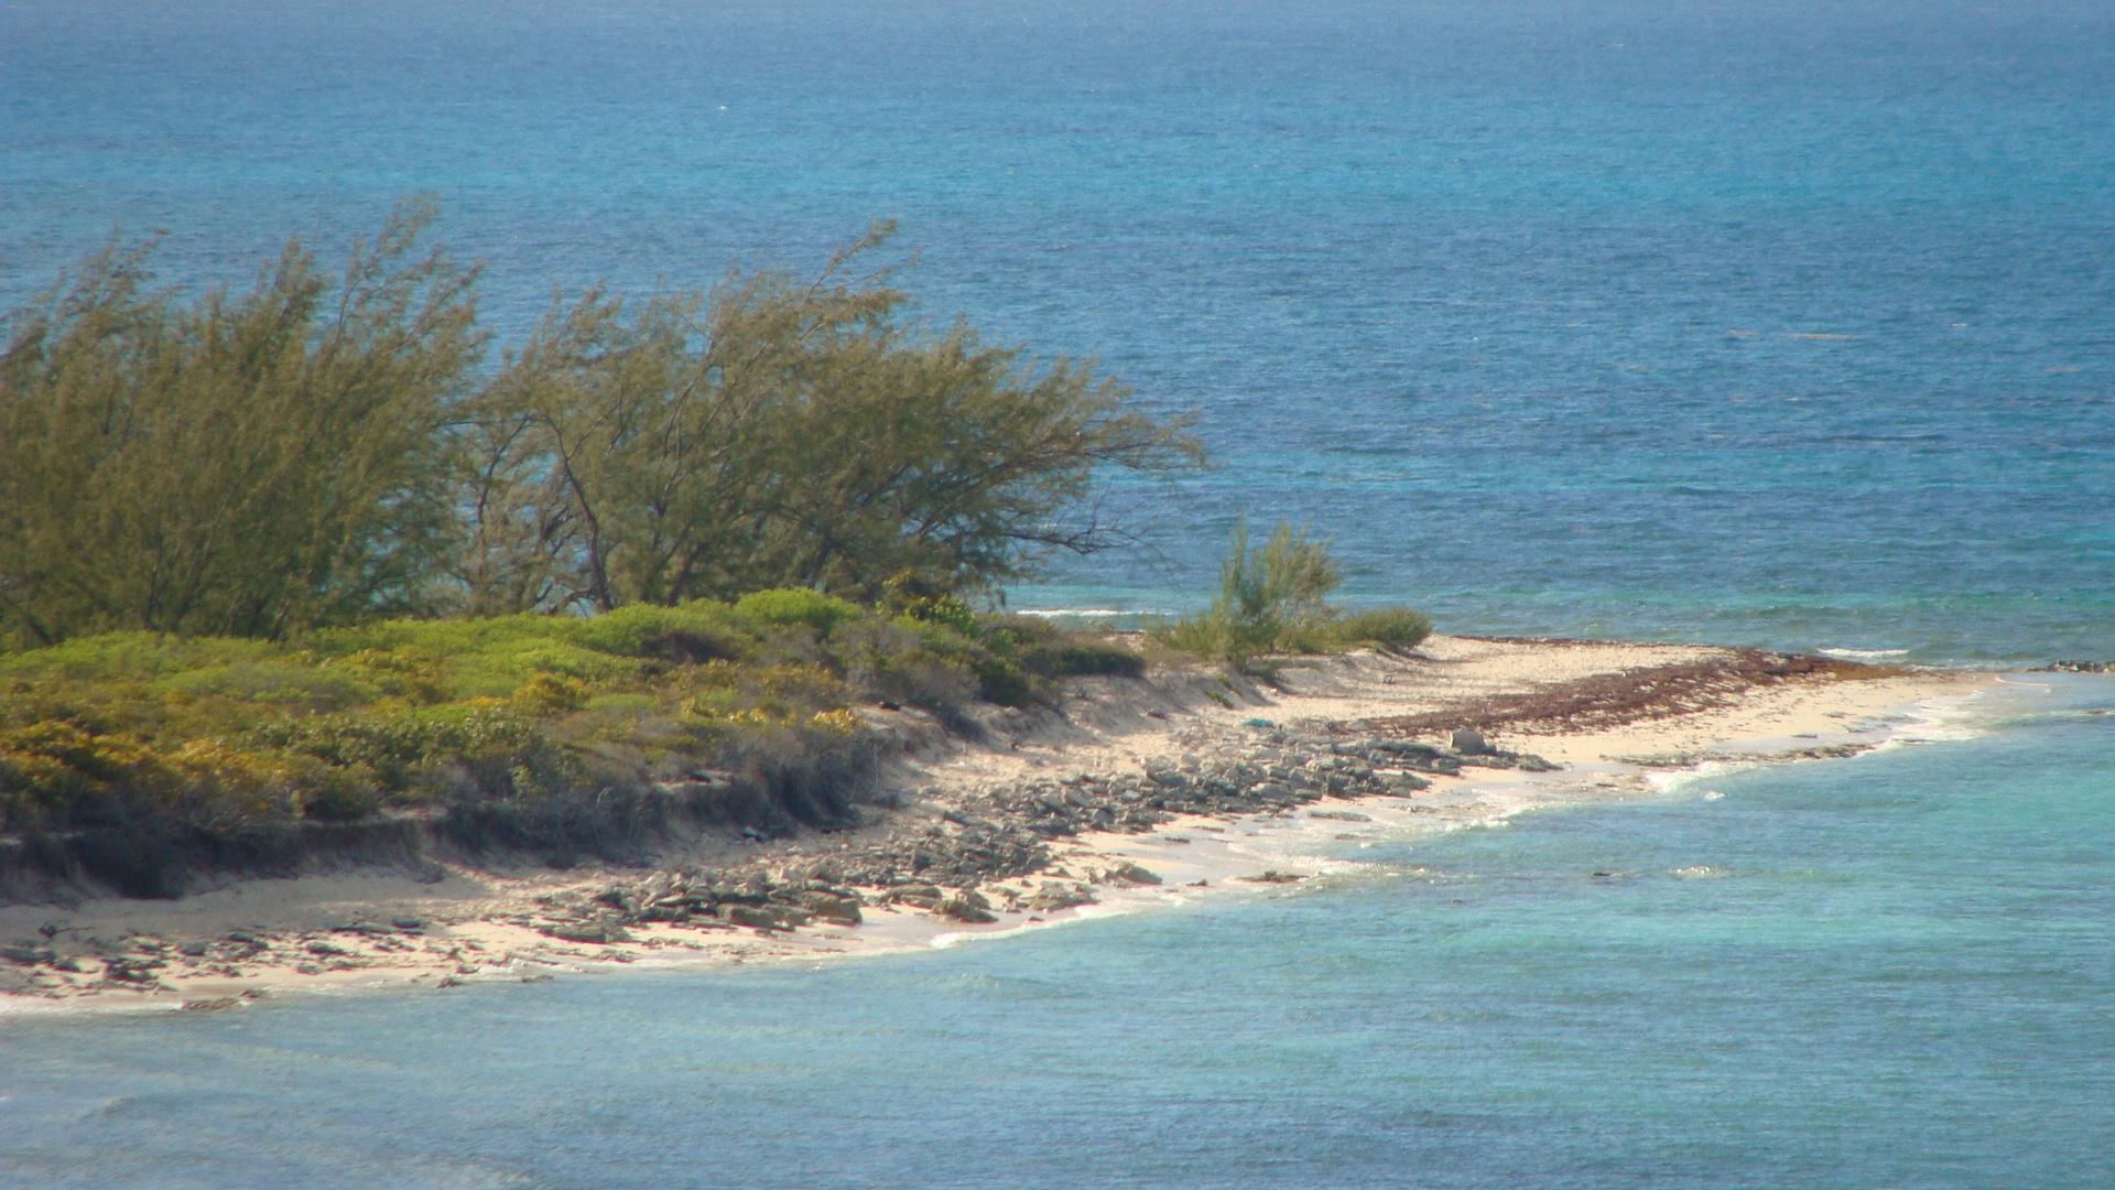
[[[243,296],[110,248],[8,315],[0,648],[283,637],[400,614],[607,612],[802,587],[971,593],[1127,540],[1098,474],[1201,462],[1089,366],[907,318],[878,224],[802,280],[552,313],[493,371],[429,203],[332,284],[288,244]]]

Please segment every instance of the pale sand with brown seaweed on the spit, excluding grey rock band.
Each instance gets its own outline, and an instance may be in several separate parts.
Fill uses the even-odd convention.
[[[1273,684],[1208,671],[1151,682],[1085,680],[1058,711],[994,720],[983,745],[907,754],[890,777],[897,811],[848,832],[668,855],[749,870],[827,858],[863,839],[931,830],[964,805],[1024,781],[1112,777],[1187,762],[1250,762],[1273,739],[1406,739],[1449,745],[1457,726],[1491,747],[1535,754],[1548,773],[1470,767],[1411,796],[1322,798],[1269,815],[1178,815],[1151,830],[1051,841],[1045,870],[977,889],[996,921],[962,923],[880,887],[859,925],[753,930],[719,921],[632,923],[628,938],[571,942],[531,925],[552,898],[592,896],[643,870],[448,868],[444,879],[330,875],[231,883],[178,902],[85,900],[0,908],[0,1014],[49,1010],[224,1010],[269,995],[453,989],[647,966],[819,961],[950,946],[1096,917],[1258,896],[1345,862],[1345,839],[1404,839],[1523,809],[1652,796],[1705,764],[1834,758],[1944,735],[1997,675],[1906,673],[1787,661],[1705,646],[1432,637],[1406,656],[1282,659]],[[888,728],[882,716],[878,726]],[[916,728],[918,724],[895,724]],[[916,735],[916,733],[912,733]],[[931,733],[926,733],[931,737]],[[732,847],[732,851],[730,851]],[[1144,883],[1140,872],[1159,883]],[[1267,877],[1267,879],[1258,879]],[[1030,908],[1051,883],[1093,904]]]

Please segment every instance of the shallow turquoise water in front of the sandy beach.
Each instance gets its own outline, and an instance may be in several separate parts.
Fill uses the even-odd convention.
[[[2111,705],[937,953],[11,1023],[0,1182],[2104,1188]]]

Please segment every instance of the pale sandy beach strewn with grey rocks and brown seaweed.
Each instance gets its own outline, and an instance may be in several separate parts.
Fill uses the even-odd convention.
[[[1081,680],[1062,707],[988,716],[979,743],[876,709],[869,724],[897,741],[897,805],[857,830],[725,841],[649,870],[444,866],[6,906],[0,1012],[819,961],[1261,896],[1343,866],[1322,853],[1347,843],[1912,741],[1990,682],[1703,646],[1432,637],[1406,656],[1280,659],[1271,682],[1203,667]],[[1233,792],[1208,813],[1146,809],[1155,781]],[[1032,845],[979,847],[1003,836]],[[859,879],[878,868],[854,860],[916,855],[920,841],[996,858]],[[706,891],[742,879],[776,917]]]

